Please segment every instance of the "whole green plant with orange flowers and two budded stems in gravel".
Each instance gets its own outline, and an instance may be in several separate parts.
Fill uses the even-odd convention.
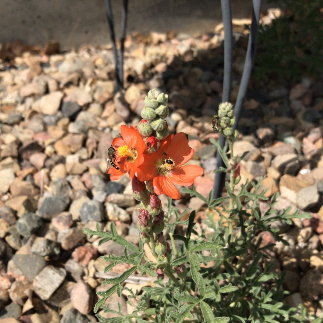
[[[146,106],[156,111],[160,105],[165,106],[165,98],[157,90],[152,90],[148,93]],[[260,182],[253,183],[253,193],[247,190],[248,182],[236,190],[241,181],[239,162],[244,156],[234,156],[233,142],[238,133],[232,129],[235,122],[232,105],[221,104],[219,115],[213,118],[214,130],[224,135],[229,145],[227,154],[217,141],[213,141],[225,164],[219,171],[230,173],[230,181],[226,182],[228,196],[214,200],[212,192],[205,198],[195,188],[183,189],[205,203],[203,223],[207,231],[196,227],[195,211],[190,213],[188,220],[182,221],[182,216],[189,209],[179,214],[178,208],[172,205],[171,198],[179,198],[172,183],[180,182],[188,186],[196,176],[201,175],[201,170],[198,166],[182,166],[193,156],[185,134],[168,136],[166,131],[164,138],[153,139],[157,139],[154,131],[164,131],[164,128],[159,124],[159,130],[153,129],[158,124],[154,121],[159,120],[160,116],[157,113],[151,118],[152,110],[143,112],[146,119],[138,127],[139,131],[122,126],[121,136],[112,141],[115,149],[113,156],[110,154],[113,158],[113,167],[109,170],[111,178],[116,179],[129,172],[134,197],[141,203],[139,246],[130,244],[118,235],[113,223],[111,233],[99,230],[99,226],[96,231],[84,231],[101,236],[100,243],[113,240],[124,247],[123,256],[103,256],[109,262],[105,271],[120,263],[131,265],[119,277],[105,279],[103,284],[112,286],[98,292],[101,298],[94,311],[98,312],[102,307],[105,312],[116,316],[107,319],[97,314],[97,317],[102,322],[111,323],[133,322],[133,319],[138,323],[304,322],[307,319],[304,309],[283,305],[285,292],[280,288],[283,277],[272,270],[268,253],[273,244],[262,244],[262,238],[257,238],[257,235],[267,231],[278,241],[287,244],[278,235],[277,229],[271,227],[271,223],[276,220],[291,223],[292,218],[306,215],[298,212],[289,214],[290,209],[274,211],[272,206],[276,203],[277,195],[268,203],[265,214],[261,214],[259,201],[268,199],[265,192],[259,191]],[[148,112],[151,116],[148,116]],[[141,141],[145,142],[144,146]],[[143,149],[145,147],[148,151]],[[161,193],[170,196],[165,211],[161,209],[157,196]],[[245,201],[244,204],[241,200]],[[219,214],[217,220],[214,214]],[[179,225],[185,225],[184,234],[177,233]],[[198,227],[201,228],[201,224]],[[163,232],[169,235],[171,245],[165,241]],[[176,240],[180,242],[180,247],[176,247]],[[155,260],[151,261],[146,256],[144,244],[148,245]],[[128,301],[133,299],[132,304],[136,304],[136,309],[122,316],[120,305],[119,311],[115,311],[105,303],[112,293],[121,295],[123,282],[132,274],[148,275],[156,280],[153,286],[143,287],[140,294],[128,289]]]

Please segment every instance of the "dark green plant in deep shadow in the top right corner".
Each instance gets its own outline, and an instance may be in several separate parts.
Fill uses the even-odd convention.
[[[259,29],[255,76],[299,81],[323,71],[323,1],[283,0],[282,15]]]

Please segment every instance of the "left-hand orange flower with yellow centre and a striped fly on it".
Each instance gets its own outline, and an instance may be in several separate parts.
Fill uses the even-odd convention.
[[[120,138],[114,138],[112,140],[112,147],[115,150],[112,162],[115,167],[111,166],[107,172],[111,174],[111,180],[119,179],[126,172],[129,172],[132,178],[137,167],[143,162],[143,152],[146,149],[141,134],[133,126],[128,128],[122,125],[120,132]]]

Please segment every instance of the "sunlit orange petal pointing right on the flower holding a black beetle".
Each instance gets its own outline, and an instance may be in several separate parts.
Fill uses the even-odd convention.
[[[189,186],[193,184],[197,176],[203,174],[203,168],[197,165],[185,165],[172,169],[168,172],[168,178],[176,184]]]

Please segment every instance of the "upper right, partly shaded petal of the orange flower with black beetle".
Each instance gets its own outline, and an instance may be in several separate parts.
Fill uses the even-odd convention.
[[[166,153],[172,158],[176,166],[181,166],[189,161],[194,155],[194,149],[188,145],[187,135],[184,132],[177,133],[167,145]]]

